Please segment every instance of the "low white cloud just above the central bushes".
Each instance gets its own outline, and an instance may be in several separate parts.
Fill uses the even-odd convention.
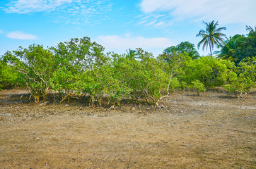
[[[95,41],[105,46],[107,51],[124,54],[125,50],[129,48],[142,48],[151,52],[154,56],[162,54],[163,49],[174,45],[171,39],[165,37],[146,38],[141,36],[131,37],[131,35],[124,35],[124,37],[117,35],[98,36]]]

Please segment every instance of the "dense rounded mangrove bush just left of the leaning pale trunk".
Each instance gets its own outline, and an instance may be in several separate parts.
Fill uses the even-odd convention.
[[[114,56],[117,78],[124,81],[134,97],[151,99],[157,104],[168,83],[168,74],[163,71],[163,62],[153,58],[152,54],[136,49],[137,59],[127,56]]]

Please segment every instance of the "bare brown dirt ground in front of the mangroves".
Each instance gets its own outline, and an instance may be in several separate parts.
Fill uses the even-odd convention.
[[[0,92],[0,168],[256,168],[256,92],[173,92],[156,108]]]

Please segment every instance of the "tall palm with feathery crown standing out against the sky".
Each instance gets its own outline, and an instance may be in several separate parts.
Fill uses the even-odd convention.
[[[203,39],[197,44],[197,47],[203,45],[203,51],[204,47],[209,45],[210,52],[211,49],[214,49],[214,45],[220,46],[224,42],[224,37],[226,37],[225,34],[221,33],[221,30],[226,30],[226,27],[217,27],[219,25],[218,22],[214,23],[214,20],[211,21],[211,23],[206,23],[203,21],[203,23],[206,25],[206,30],[200,30],[197,34],[197,37],[202,37]],[[212,53],[211,53],[212,55]]]

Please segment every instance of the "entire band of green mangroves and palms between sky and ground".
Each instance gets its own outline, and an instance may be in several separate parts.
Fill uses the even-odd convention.
[[[205,23],[200,30],[199,46],[216,45],[220,51],[199,56],[190,42],[170,46],[158,57],[143,49],[127,54],[104,53],[104,47],[89,37],[75,38],[57,46],[30,45],[7,51],[0,58],[0,88],[26,87],[35,102],[46,101],[51,92],[59,93],[59,102],[70,97],[89,96],[91,106],[119,105],[123,98],[145,99],[158,105],[175,89],[224,87],[241,96],[255,87],[256,32],[224,39],[218,22]]]

